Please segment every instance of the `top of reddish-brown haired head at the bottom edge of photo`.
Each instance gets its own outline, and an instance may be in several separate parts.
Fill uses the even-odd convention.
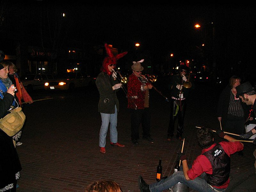
[[[122,192],[115,181],[96,181],[87,186],[85,192]]]

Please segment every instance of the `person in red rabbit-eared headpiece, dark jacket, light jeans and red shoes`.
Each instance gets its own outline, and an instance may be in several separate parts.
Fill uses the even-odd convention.
[[[101,72],[96,78],[96,86],[99,91],[98,112],[101,115],[101,127],[99,133],[100,153],[106,153],[106,134],[110,125],[110,144],[124,147],[117,142],[117,113],[119,112],[119,101],[116,91],[122,84],[116,79],[113,69],[115,69],[117,60],[127,54],[123,52],[114,55],[108,44],[105,44],[105,50],[108,56],[103,60]]]

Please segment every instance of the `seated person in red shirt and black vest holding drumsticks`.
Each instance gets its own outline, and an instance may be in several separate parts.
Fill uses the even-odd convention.
[[[219,137],[227,141],[215,143],[214,133],[207,127],[197,131],[198,144],[202,148],[199,155],[188,168],[187,158],[181,154],[183,171],[177,171],[173,175],[155,182],[146,184],[139,176],[139,188],[141,192],[160,192],[166,190],[178,182],[199,192],[225,191],[229,185],[230,155],[243,150],[244,145],[239,141],[232,141],[232,137],[219,130]]]

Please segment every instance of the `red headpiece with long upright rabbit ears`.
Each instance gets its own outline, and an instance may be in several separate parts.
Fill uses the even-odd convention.
[[[104,71],[104,72],[108,73],[108,75],[111,75],[112,71],[109,70],[108,65],[111,65],[111,64],[116,65],[117,60],[120,59],[121,57],[123,57],[124,55],[126,55],[127,51],[123,52],[123,53],[119,53],[116,56],[114,56],[114,54],[112,53],[108,44],[105,44],[105,49],[106,49],[106,53],[109,56],[106,56],[104,58],[102,67],[101,67],[101,71]]]

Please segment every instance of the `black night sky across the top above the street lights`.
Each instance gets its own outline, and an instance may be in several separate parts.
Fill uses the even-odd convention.
[[[255,6],[251,5],[7,2],[7,19],[16,20],[14,30],[23,27],[25,34],[39,32],[41,10],[55,14],[63,11],[67,13],[69,38],[98,45],[107,42],[128,51],[138,41],[141,48],[155,54],[172,51],[182,55],[189,45],[203,38],[205,26],[215,21],[215,37],[220,49],[232,48],[237,57],[254,55],[256,13]],[[201,23],[201,32],[194,29],[196,22]],[[207,35],[212,33],[208,31]]]

